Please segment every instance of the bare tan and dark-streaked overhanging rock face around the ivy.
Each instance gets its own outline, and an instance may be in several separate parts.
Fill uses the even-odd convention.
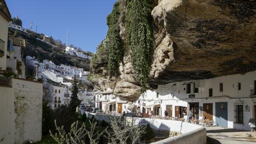
[[[152,86],[256,70],[256,1],[162,0],[152,17]],[[125,24],[120,28],[125,40]],[[130,55],[123,58],[119,73],[111,80],[100,73],[99,87],[108,85],[127,100],[138,98],[140,84]]]

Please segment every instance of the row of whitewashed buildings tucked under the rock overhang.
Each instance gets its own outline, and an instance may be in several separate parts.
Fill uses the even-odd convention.
[[[248,121],[256,118],[256,71],[244,75],[228,75],[204,80],[190,80],[159,85],[148,90],[136,105],[144,115],[187,118],[191,110],[195,118],[214,120],[222,127],[250,130]],[[155,110],[156,109],[156,110]]]

